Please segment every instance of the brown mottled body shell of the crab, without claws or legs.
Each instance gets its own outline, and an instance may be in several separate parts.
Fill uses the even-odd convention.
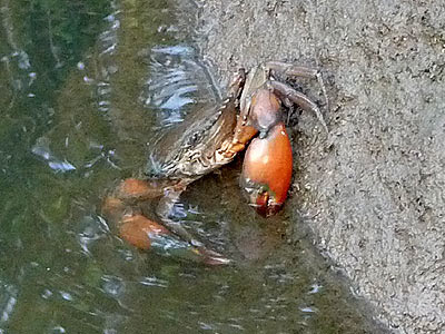
[[[161,134],[149,153],[147,177],[192,181],[230,163],[236,151],[227,148],[237,122],[238,89],[221,107],[196,110]]]

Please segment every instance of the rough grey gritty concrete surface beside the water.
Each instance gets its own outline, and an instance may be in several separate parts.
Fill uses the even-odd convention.
[[[295,218],[396,333],[445,332],[443,1],[200,2],[221,85],[265,60],[319,67],[329,136],[289,129]],[[323,106],[319,87],[301,81]]]

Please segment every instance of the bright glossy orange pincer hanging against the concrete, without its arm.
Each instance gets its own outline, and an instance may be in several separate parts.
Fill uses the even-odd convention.
[[[293,154],[283,122],[274,126],[263,139],[255,138],[247,149],[241,186],[249,202],[264,216],[277,213],[290,186]]]

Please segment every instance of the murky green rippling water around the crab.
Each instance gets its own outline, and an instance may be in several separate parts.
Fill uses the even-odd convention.
[[[245,205],[239,163],[176,210],[233,266],[138,252],[101,217],[150,138],[218,100],[194,6],[0,6],[0,333],[376,333],[295,232],[297,208],[264,220]]]

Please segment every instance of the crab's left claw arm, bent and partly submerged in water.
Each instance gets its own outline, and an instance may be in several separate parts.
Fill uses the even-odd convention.
[[[102,214],[117,226],[123,240],[139,249],[156,248],[161,255],[208,265],[230,263],[218,253],[207,249],[179,223],[169,218],[175,203],[185,190],[181,181],[169,184],[167,187],[162,180],[126,179],[112,196],[105,198]],[[158,214],[162,225],[144,216],[139,207],[144,200],[157,197],[161,197]]]

